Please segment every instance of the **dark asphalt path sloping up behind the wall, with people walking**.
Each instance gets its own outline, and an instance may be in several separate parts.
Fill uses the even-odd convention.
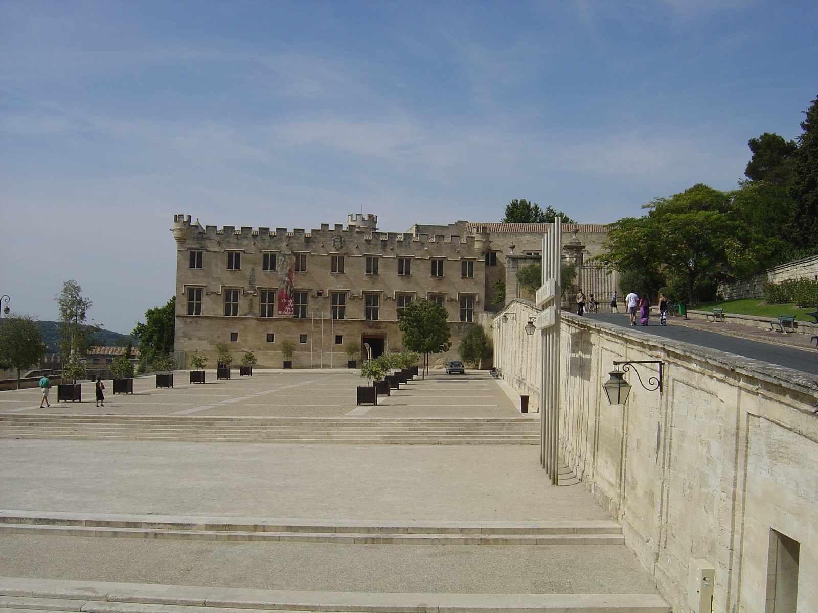
[[[591,320],[605,321],[608,324],[621,325],[626,328],[631,327],[630,320],[626,315],[589,313],[585,316]],[[659,325],[658,320],[651,320],[647,326],[637,324],[636,329],[664,338],[671,338],[674,341],[690,342],[692,345],[735,353],[739,356],[784,366],[784,368],[798,370],[802,373],[818,375],[818,351],[805,351],[782,345],[773,345],[768,342],[750,341],[747,338],[706,332],[688,328],[685,325],[674,325],[672,321],[668,321],[667,325]]]

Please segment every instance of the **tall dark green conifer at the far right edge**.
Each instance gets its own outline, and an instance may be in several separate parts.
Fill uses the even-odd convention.
[[[798,150],[793,154],[793,182],[790,195],[796,203],[789,224],[793,242],[818,247],[818,99],[805,111],[801,122]]]

